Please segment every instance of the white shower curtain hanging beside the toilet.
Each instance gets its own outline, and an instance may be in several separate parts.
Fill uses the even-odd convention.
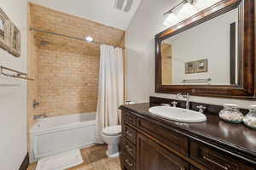
[[[101,45],[99,88],[96,110],[96,143],[103,144],[102,129],[119,124],[119,105],[124,103],[122,48]]]

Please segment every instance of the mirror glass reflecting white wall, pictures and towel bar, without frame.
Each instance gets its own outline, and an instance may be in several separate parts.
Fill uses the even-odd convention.
[[[165,39],[162,85],[238,85],[238,8]]]

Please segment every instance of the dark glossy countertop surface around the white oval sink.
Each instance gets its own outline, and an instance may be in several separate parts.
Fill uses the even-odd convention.
[[[163,123],[163,125],[176,128],[182,133],[224,146],[225,149],[235,151],[237,155],[248,157],[248,160],[256,162],[256,130],[245,125],[232,124],[219,119],[217,115],[207,114],[207,122],[181,123],[173,122],[152,115],[148,109],[149,103],[136,105],[122,105],[121,110],[130,111],[137,116],[145,116],[150,120]],[[253,157],[253,160],[252,160]]]

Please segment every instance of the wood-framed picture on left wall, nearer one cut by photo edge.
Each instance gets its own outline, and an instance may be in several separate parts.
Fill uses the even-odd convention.
[[[0,47],[10,51],[10,32],[11,21],[9,17],[0,8]]]

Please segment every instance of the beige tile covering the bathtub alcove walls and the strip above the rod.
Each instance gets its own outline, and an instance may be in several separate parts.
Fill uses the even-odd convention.
[[[33,28],[124,47],[125,31],[30,3]],[[29,31],[28,122],[33,115],[62,116],[96,111],[100,46]],[[32,108],[32,100],[40,105]]]

